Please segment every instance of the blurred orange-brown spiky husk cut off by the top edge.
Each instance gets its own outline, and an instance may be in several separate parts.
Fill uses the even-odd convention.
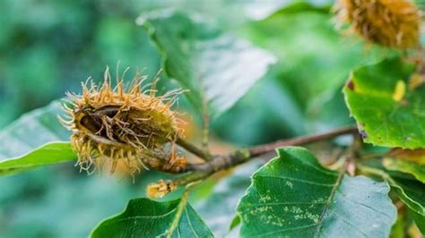
[[[400,49],[420,46],[421,13],[409,0],[338,0],[335,10],[372,43]]]

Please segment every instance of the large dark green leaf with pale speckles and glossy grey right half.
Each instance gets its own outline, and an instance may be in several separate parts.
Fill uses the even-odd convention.
[[[396,209],[387,183],[328,170],[301,148],[278,149],[238,206],[244,237],[387,237]]]

